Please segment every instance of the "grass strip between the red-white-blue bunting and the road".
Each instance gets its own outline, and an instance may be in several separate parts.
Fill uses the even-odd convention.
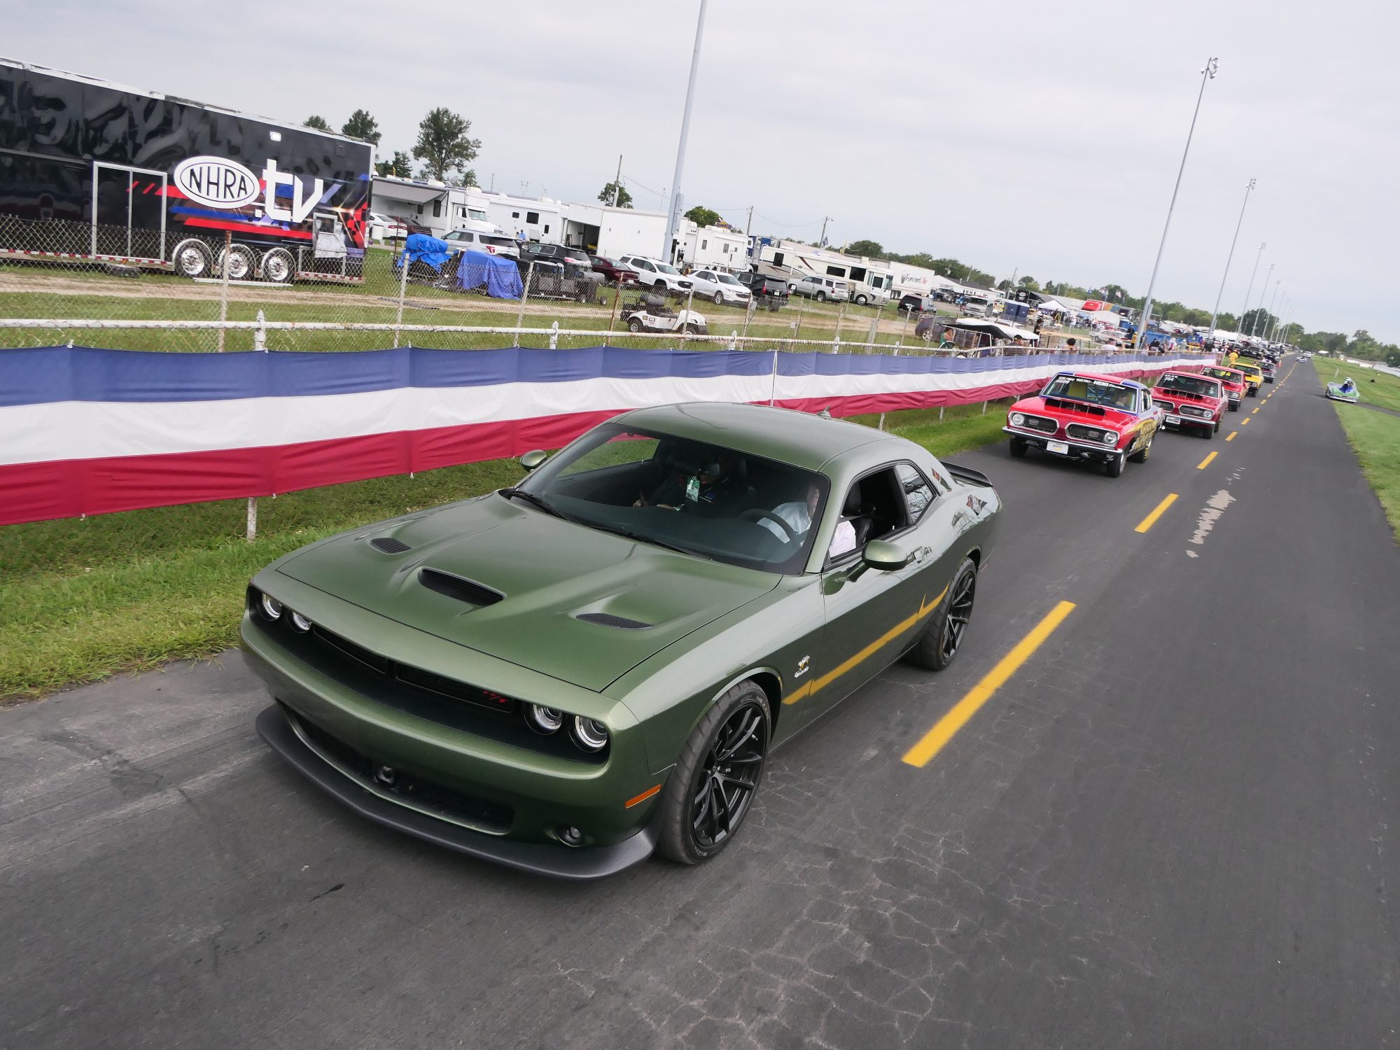
[[[953,455],[1000,437],[1005,402],[980,409],[948,409],[942,423],[937,410],[890,413],[885,424]],[[273,559],[519,473],[497,459],[262,498],[253,543],[244,500],[0,528],[0,703],[221,652],[237,641],[248,578]]]

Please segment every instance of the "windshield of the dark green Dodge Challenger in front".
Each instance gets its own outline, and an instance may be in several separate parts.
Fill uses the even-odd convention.
[[[722,445],[603,424],[521,486],[589,528],[767,573],[806,566],[823,475]]]

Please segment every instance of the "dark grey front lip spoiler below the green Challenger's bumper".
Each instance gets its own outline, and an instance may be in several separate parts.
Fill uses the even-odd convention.
[[[295,715],[288,717],[277,704],[263,708],[258,715],[258,735],[298,773],[336,801],[360,816],[412,834],[414,839],[518,871],[580,882],[616,875],[647,860],[655,850],[657,834],[651,827],[643,827],[630,839],[613,846],[571,848],[563,844],[498,839],[410,809],[389,801],[382,791],[363,783],[349,770],[332,764],[323,752],[315,750],[305,735],[293,727],[290,721],[293,717]]]

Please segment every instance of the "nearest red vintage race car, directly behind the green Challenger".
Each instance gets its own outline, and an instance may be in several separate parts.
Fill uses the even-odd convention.
[[[1022,398],[1007,413],[1011,455],[1030,447],[1067,459],[1103,463],[1109,477],[1131,459],[1145,463],[1163,413],[1148,388],[1093,372],[1060,372],[1040,393]]]

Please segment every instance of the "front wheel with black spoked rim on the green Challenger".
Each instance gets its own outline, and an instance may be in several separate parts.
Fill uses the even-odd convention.
[[[752,680],[710,704],[680,749],[661,795],[657,850],[662,857],[676,864],[704,864],[734,841],[763,781],[771,725],[769,697]],[[734,792],[732,802],[725,784]],[[725,812],[717,806],[725,806]]]

